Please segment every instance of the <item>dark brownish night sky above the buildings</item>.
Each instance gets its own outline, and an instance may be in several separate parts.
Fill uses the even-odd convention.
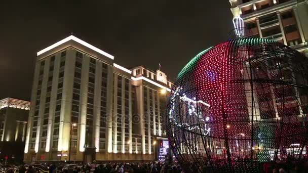
[[[2,1],[0,99],[29,100],[36,52],[71,32],[124,67],[156,71],[161,63],[174,80],[191,58],[227,39],[229,7],[228,0]]]

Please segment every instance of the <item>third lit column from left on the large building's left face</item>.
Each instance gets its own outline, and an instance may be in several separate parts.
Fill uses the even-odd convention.
[[[56,109],[56,101],[57,101],[57,91],[58,91],[58,81],[59,81],[59,69],[60,69],[60,61],[61,58],[57,54],[54,62],[54,70],[53,70],[53,79],[52,79],[52,88],[50,94],[50,105],[49,105],[49,117],[48,117],[48,125],[47,125],[47,137],[46,137],[46,148],[45,151],[49,152],[52,147],[52,133],[53,133],[53,124],[55,118],[55,109]]]

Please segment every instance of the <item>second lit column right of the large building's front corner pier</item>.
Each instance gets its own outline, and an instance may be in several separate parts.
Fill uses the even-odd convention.
[[[100,142],[100,112],[101,112],[101,87],[102,84],[102,63],[96,61],[95,65],[95,83],[94,83],[94,146],[95,151],[99,152],[99,142]]]

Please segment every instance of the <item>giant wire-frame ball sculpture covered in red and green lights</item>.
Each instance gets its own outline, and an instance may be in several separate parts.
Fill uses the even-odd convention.
[[[230,39],[188,62],[166,121],[185,172],[259,172],[304,159],[307,69],[303,54],[262,38]]]

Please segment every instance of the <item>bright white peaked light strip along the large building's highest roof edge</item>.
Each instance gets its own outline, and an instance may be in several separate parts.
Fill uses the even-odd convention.
[[[88,44],[88,42],[83,41],[83,40],[81,40],[81,39],[79,39],[79,38],[77,38],[77,37],[75,37],[73,35],[70,35],[70,36],[62,39],[61,41],[58,41],[55,44],[53,44],[53,45],[43,49],[42,51],[37,52],[36,56],[44,54],[45,52],[50,51],[50,50],[56,48],[57,46],[60,46],[60,45],[64,44],[65,42],[67,42],[69,40],[74,40],[74,41],[78,42],[79,44],[81,44],[81,45],[83,45],[83,46],[85,46],[87,48],[92,49],[93,51],[96,51],[96,52],[98,52],[98,53],[100,53],[100,54],[102,54],[102,55],[104,55],[104,56],[106,56],[106,57],[108,57],[108,58],[110,58],[112,60],[114,59],[114,56],[112,56],[112,55],[110,55],[110,54],[108,54],[108,53],[106,53],[106,52],[104,52],[104,51],[102,51],[102,50],[100,50],[100,49],[98,49],[98,48]]]

